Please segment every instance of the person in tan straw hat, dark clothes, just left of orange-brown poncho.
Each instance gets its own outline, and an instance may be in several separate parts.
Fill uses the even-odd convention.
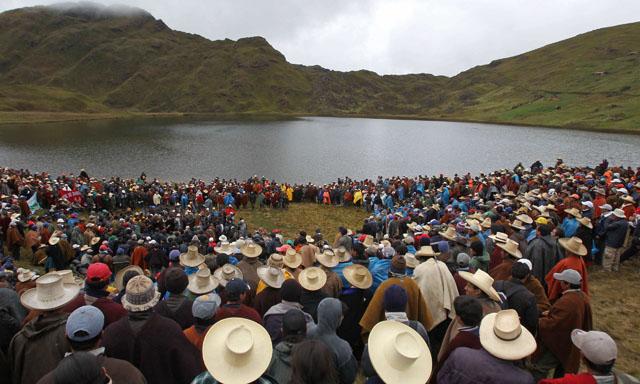
[[[369,270],[359,264],[352,264],[343,270],[347,285],[340,294],[340,301],[348,310],[338,328],[338,336],[345,339],[353,348],[356,359],[360,359],[364,344],[362,343],[362,328],[359,321],[367,310],[372,292],[369,288],[373,284],[373,277]]]

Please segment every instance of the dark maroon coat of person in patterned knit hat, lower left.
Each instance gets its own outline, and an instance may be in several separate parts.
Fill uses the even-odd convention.
[[[131,362],[149,383],[180,384],[204,370],[200,352],[173,320],[154,313],[136,333],[129,317],[104,331],[102,345],[110,357]]]

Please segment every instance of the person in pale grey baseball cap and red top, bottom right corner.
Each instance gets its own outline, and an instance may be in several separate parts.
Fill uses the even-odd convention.
[[[607,333],[574,329],[571,332],[571,342],[580,350],[586,372],[576,375],[568,373],[557,379],[543,379],[539,384],[640,383],[640,380],[613,368],[618,358],[618,346]]]

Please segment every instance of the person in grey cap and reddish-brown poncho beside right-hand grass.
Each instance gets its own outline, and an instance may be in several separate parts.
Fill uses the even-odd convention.
[[[538,322],[538,338],[542,352],[533,361],[532,372],[540,380],[555,369],[555,376],[577,373],[580,351],[571,342],[571,330],[592,329],[593,319],[589,297],[582,292],[582,276],[574,269],[554,273],[562,295],[551,309],[543,312]]]

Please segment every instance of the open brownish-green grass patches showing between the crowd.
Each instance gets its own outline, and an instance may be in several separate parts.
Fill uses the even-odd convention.
[[[294,238],[300,230],[313,233],[320,228],[324,238],[333,241],[341,225],[354,231],[361,228],[368,213],[362,209],[329,207],[318,204],[293,204],[281,209],[241,209],[250,230],[278,228],[285,238]],[[28,260],[21,266],[30,268]],[[608,332],[618,343],[618,369],[640,375],[640,300],[635,282],[640,277],[637,258],[622,266],[618,273],[605,273],[593,267],[589,275],[591,308],[596,329]]]

